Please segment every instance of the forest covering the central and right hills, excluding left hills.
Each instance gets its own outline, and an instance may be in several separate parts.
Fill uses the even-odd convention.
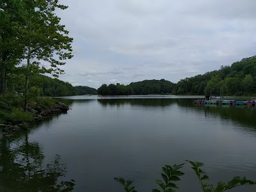
[[[128,85],[102,84],[101,95],[220,95],[222,87],[225,95],[256,95],[256,56],[244,58],[231,66],[221,66],[220,70],[203,75],[181,79],[174,84],[164,79],[145,80]]]

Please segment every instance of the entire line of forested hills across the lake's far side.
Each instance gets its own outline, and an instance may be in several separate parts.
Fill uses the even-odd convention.
[[[220,88],[225,95],[256,96],[256,56],[244,58],[232,63],[231,66],[221,66],[219,70],[207,72],[203,75],[180,79],[178,83],[161,80],[144,80],[128,85],[102,84],[98,90],[88,86],[72,86],[72,84],[47,76],[31,77],[30,88],[33,92],[40,92],[41,96],[68,96],[68,95],[148,95],[148,94],[175,94],[175,95],[204,95],[212,92],[220,95]],[[19,92],[22,86],[16,85]],[[20,87],[20,90],[19,90]]]

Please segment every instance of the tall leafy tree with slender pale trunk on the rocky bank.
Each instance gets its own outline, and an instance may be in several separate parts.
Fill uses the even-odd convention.
[[[54,77],[63,74],[59,67],[63,60],[72,58],[72,38],[68,37],[65,26],[60,24],[56,8],[65,10],[67,6],[58,0],[24,0],[23,42],[26,60],[26,86],[24,110],[28,107],[28,85],[32,74],[49,73]],[[41,65],[46,61],[46,65]]]

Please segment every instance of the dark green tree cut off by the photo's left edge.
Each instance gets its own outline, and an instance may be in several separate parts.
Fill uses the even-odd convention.
[[[22,56],[22,46],[19,44],[20,31],[19,0],[0,1],[0,93],[6,92],[6,74],[19,62]]]

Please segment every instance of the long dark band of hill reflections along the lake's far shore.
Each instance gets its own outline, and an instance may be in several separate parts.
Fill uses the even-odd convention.
[[[98,104],[102,105],[104,108],[110,106],[143,106],[150,108],[164,108],[168,106],[172,106],[173,104],[177,104],[177,106],[182,108],[187,108],[192,111],[196,111],[198,113],[204,111],[205,116],[214,115],[220,116],[222,119],[231,119],[234,122],[239,124],[246,125],[247,127],[256,127],[256,108],[255,107],[247,107],[247,106],[214,106],[214,105],[196,105],[193,103],[195,98],[179,98],[179,99],[152,99],[152,98],[143,98],[143,99],[61,99],[61,102],[65,102],[65,104],[69,104],[71,107],[74,104],[88,103],[88,102],[98,102]],[[192,112],[191,111],[191,112]]]

